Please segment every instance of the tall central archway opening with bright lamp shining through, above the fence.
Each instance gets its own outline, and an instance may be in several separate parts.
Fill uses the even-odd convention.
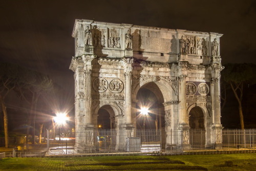
[[[161,129],[164,127],[163,95],[157,84],[149,82],[142,86],[136,96],[137,129]],[[144,111],[143,111],[144,110]],[[145,111],[147,110],[147,111]]]

